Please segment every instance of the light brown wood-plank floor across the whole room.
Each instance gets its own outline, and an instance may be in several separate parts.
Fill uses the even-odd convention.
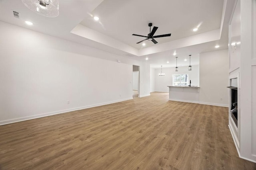
[[[0,167],[68,170],[255,170],[238,157],[228,108],[151,93],[0,126]],[[1,169],[0,168],[0,169]]]

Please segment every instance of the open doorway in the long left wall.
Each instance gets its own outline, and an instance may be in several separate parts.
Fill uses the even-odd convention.
[[[140,96],[140,66],[132,65],[132,97]]]

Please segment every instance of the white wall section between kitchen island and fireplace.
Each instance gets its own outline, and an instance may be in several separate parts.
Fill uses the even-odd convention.
[[[200,53],[200,93],[202,104],[229,104],[228,50]],[[222,100],[221,100],[222,98]]]

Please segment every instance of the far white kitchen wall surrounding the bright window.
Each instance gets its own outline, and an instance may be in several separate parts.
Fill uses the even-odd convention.
[[[165,76],[158,76],[161,73],[161,68],[154,70],[155,76],[155,91],[156,92],[169,92],[167,86],[172,86],[172,75],[173,74],[189,74],[191,80],[191,86],[199,86],[199,66],[192,66],[192,70],[188,70],[188,66],[178,67],[178,72],[175,71],[174,67],[162,68],[162,72]]]

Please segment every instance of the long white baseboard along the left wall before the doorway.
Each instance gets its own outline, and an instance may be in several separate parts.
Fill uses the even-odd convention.
[[[132,99],[133,98],[126,98],[126,99],[116,100],[116,101],[112,101],[112,102],[105,102],[105,103],[94,104],[94,105],[89,105],[89,106],[76,107],[76,108],[72,108],[72,109],[65,109],[65,110],[60,110],[60,111],[54,111],[54,112],[44,113],[44,114],[40,114],[40,115],[32,115],[32,116],[27,116],[27,117],[20,117],[20,118],[17,118],[17,119],[10,119],[10,120],[5,120],[5,121],[0,121],[0,125],[6,125],[6,124],[15,123],[15,122],[19,122],[19,121],[30,120],[30,119],[37,119],[37,118],[40,118],[40,117],[57,115],[57,114],[66,113],[66,112],[70,112],[70,111],[87,109],[87,108],[96,107],[96,106],[103,106],[103,105],[107,105],[107,104],[113,104],[113,103],[122,102],[122,101],[126,101],[126,100],[132,100]]]

